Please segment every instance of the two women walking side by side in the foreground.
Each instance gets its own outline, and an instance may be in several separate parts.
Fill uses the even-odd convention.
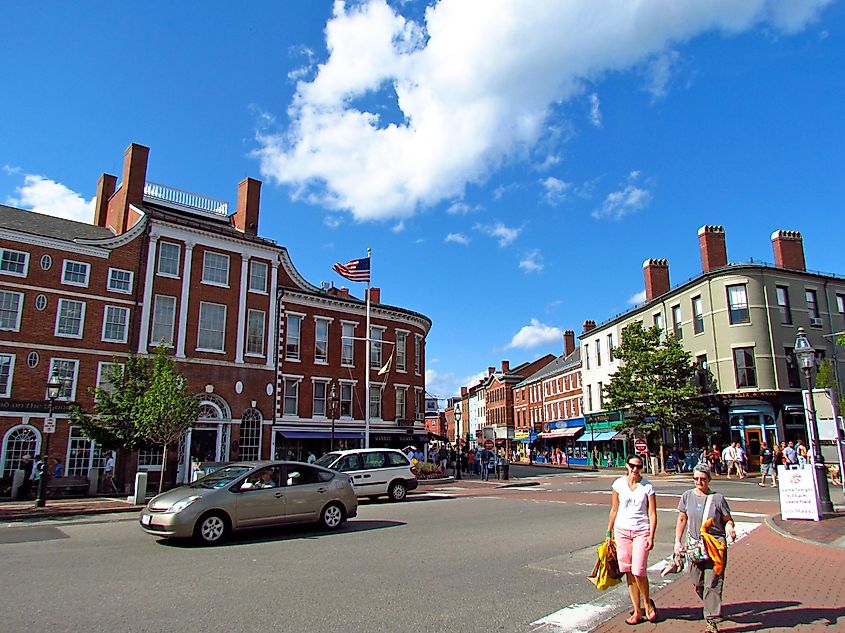
[[[657,530],[657,497],[654,485],[642,476],[639,455],[628,457],[627,473],[613,482],[606,537],[616,544],[619,571],[628,585],[633,610],[629,625],[657,622],[657,605],[648,583],[648,554]],[[706,560],[689,558],[689,575],[703,603],[707,633],[716,633],[722,612],[722,586],[727,563],[727,539],[736,540],[734,520],[727,499],[710,489],[711,470],[703,462],[693,469],[692,489],[681,495],[675,525],[675,554],[687,555],[690,544],[705,533],[716,543],[718,556]],[[709,548],[708,548],[709,551]]]

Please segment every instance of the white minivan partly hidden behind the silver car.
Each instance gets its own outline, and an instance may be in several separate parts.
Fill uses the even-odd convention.
[[[409,490],[419,485],[411,460],[394,448],[332,451],[316,464],[348,475],[358,497],[375,499],[387,495],[391,501],[402,501]]]

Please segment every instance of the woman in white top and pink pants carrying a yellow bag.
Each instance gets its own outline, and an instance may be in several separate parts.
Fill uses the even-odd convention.
[[[657,530],[657,497],[654,486],[643,479],[643,460],[628,457],[628,474],[613,482],[607,538],[616,539],[619,571],[625,572],[634,610],[627,624],[657,621],[657,608],[648,592],[648,553]]]

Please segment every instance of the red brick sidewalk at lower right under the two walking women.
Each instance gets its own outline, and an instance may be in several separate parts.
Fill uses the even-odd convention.
[[[728,553],[720,631],[845,630],[845,550],[805,543],[762,525]],[[701,602],[685,574],[654,596],[660,620],[625,623],[628,610],[592,633],[704,631]]]

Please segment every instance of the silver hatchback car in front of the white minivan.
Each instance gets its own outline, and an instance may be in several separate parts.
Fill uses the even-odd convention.
[[[213,545],[232,531],[316,522],[334,530],[358,514],[347,475],[299,462],[244,462],[224,466],[153,497],[141,528],[167,538],[193,537]]]

